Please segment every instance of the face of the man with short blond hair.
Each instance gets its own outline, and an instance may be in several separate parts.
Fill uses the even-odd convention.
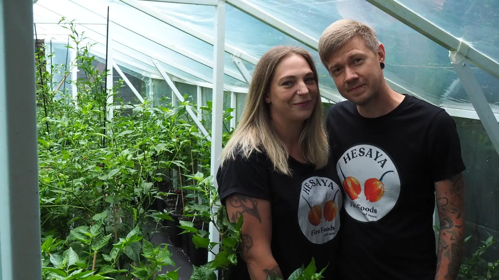
[[[329,58],[329,75],[341,96],[357,105],[366,105],[378,94],[383,79],[380,62],[384,58],[383,45],[374,53],[362,38],[355,36]]]

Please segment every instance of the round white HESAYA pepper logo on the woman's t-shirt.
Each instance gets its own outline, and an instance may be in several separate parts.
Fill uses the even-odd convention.
[[[310,177],[301,184],[298,223],[303,235],[315,244],[326,243],[340,227],[341,191],[333,180]]]

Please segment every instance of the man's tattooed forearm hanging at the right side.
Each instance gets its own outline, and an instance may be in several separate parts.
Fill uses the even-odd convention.
[[[435,183],[440,235],[435,280],[457,280],[464,243],[464,182],[459,173]]]

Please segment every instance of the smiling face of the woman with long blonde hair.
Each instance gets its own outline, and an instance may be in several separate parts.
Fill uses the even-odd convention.
[[[274,69],[265,102],[270,105],[272,120],[303,122],[312,115],[316,97],[317,84],[310,66],[301,55],[291,54]]]

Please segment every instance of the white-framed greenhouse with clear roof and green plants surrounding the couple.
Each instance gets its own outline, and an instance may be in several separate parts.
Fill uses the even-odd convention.
[[[454,120],[458,279],[499,279],[498,0],[0,0],[0,15],[1,280],[226,279],[244,235],[216,178],[255,66],[305,49],[327,114],[347,99],[319,38],[343,18],[376,31],[391,89]],[[289,280],[320,279],[303,266]]]

